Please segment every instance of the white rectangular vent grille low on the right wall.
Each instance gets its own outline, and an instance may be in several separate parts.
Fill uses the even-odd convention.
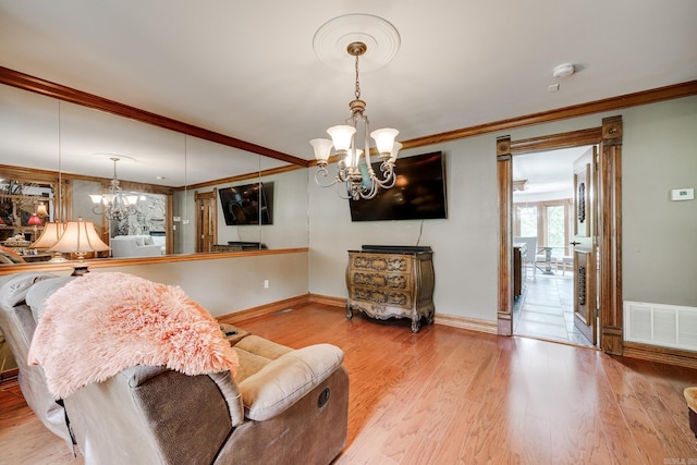
[[[697,351],[697,307],[624,302],[624,340]]]

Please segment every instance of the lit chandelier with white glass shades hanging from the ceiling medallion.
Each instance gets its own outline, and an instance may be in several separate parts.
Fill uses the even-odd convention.
[[[346,124],[332,126],[327,130],[331,139],[315,138],[309,143],[315,149],[318,169],[315,172],[315,181],[322,187],[337,185],[345,186],[346,196],[339,191],[343,198],[358,200],[360,198],[372,198],[379,188],[390,188],[394,185],[396,174],[394,163],[402,144],[394,140],[399,134],[398,130],[386,127],[370,132],[368,117],[365,114],[366,102],[360,99],[360,81],[358,78],[358,58],[367,51],[367,46],[363,41],[353,41],[346,47],[350,56],[355,58],[356,88],[355,99],[348,103],[351,117]],[[376,173],[370,162],[370,139],[376,143],[378,160],[380,161],[380,173]],[[363,148],[358,148],[356,139],[363,137]],[[329,178],[327,170],[328,159],[332,147],[335,155],[341,157],[338,162],[335,179],[327,183],[320,180]],[[362,162],[363,158],[363,162]]]

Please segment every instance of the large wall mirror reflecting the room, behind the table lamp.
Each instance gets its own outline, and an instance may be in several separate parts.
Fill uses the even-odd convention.
[[[135,256],[308,245],[306,170],[282,160],[7,85],[0,154],[0,245],[25,261],[48,257],[25,247],[44,224],[78,217],[100,258],[126,257],[123,236],[150,246]],[[95,204],[114,180],[122,211]]]

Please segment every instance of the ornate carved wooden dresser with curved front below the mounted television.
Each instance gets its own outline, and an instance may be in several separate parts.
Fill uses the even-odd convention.
[[[359,310],[371,318],[411,318],[418,332],[421,317],[433,322],[433,253],[430,247],[364,245],[348,250],[346,317]]]

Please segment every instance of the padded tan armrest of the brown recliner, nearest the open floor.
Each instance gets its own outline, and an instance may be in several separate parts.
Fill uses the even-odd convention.
[[[281,355],[240,383],[245,416],[273,418],[326,380],[343,362],[331,344],[316,344]]]

